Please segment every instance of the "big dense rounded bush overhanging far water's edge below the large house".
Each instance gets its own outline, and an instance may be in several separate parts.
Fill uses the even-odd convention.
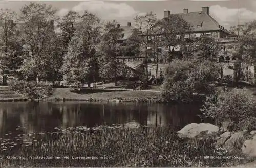
[[[193,93],[214,92],[218,66],[208,60],[174,60],[165,73],[162,96],[167,101],[193,101]]]

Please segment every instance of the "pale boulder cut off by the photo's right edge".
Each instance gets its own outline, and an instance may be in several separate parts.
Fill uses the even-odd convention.
[[[249,157],[256,157],[256,134],[252,138],[245,140],[242,152]]]

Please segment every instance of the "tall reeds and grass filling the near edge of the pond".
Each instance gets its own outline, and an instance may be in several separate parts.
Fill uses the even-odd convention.
[[[81,127],[30,134],[27,139],[30,138],[34,140],[15,153],[10,149],[0,153],[26,159],[2,159],[0,167],[230,167],[245,161],[204,159],[204,156],[215,156],[215,137],[180,139],[169,128],[101,127],[88,131]],[[29,159],[29,156],[61,156],[62,159]],[[108,158],[74,159],[78,156]]]

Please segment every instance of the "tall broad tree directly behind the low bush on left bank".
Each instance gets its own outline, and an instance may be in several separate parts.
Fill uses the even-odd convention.
[[[54,43],[56,10],[46,4],[30,3],[22,7],[20,12],[20,37],[25,50],[29,52],[20,70],[25,77],[30,76],[38,82],[39,79],[45,78],[46,68],[51,62],[52,51],[49,49]]]

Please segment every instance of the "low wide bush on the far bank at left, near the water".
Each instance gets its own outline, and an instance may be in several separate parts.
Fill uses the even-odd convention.
[[[10,89],[32,99],[42,99],[53,91],[50,85],[25,80],[12,82]]]

